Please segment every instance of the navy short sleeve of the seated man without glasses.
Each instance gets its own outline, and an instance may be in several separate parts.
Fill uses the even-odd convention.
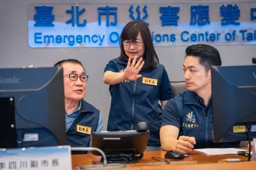
[[[179,117],[179,113],[177,110],[177,104],[174,99],[170,99],[163,108],[163,117],[162,124],[164,125],[173,125],[180,129],[182,122]]]

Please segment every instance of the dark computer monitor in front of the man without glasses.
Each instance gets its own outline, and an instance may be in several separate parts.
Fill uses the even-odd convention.
[[[215,66],[212,76],[214,142],[256,138],[256,66]]]

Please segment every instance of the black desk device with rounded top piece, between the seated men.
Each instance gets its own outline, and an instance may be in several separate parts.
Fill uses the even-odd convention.
[[[143,128],[138,128],[138,126]],[[91,147],[104,151],[108,162],[138,162],[147,147],[150,131],[145,122],[139,122],[136,131],[101,131],[91,133]],[[143,130],[145,129],[145,130]],[[101,155],[91,151],[94,155]],[[136,156],[140,154],[140,156]]]

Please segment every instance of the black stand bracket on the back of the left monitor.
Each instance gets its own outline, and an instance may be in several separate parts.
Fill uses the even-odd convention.
[[[16,148],[17,133],[15,126],[14,97],[0,97],[0,148]]]

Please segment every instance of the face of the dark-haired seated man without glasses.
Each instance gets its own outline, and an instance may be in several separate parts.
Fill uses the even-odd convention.
[[[187,56],[183,70],[188,91],[198,92],[211,84],[211,71],[205,71],[204,66],[200,65],[198,57]]]

